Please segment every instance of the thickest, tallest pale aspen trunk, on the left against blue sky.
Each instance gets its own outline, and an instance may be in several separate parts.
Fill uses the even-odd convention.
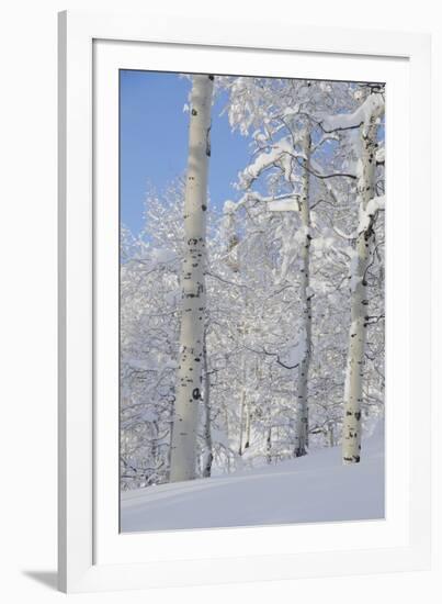
[[[205,237],[213,76],[193,76],[184,199],[182,313],[170,481],[195,478],[206,303]]]

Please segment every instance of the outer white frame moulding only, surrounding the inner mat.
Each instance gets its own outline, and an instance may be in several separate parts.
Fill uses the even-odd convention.
[[[299,27],[285,22],[166,19],[151,14],[59,15],[59,589],[66,592],[293,579],[418,570],[430,559],[430,378],[417,363],[410,441],[419,452],[410,472],[410,530],[405,547],[299,555],[229,557],[136,564],[93,564],[93,183],[92,42],[139,41],[315,53],[406,57],[411,91],[411,199],[421,208],[412,232],[430,256],[430,37],[422,34]],[[271,34],[270,32],[277,32]],[[219,32],[229,32],[220,34]],[[296,41],[296,42],[294,42]],[[416,149],[413,152],[413,149]],[[424,211],[426,210],[426,211]],[[423,246],[423,249],[422,249]],[[424,310],[429,269],[413,270],[412,348],[429,350]],[[419,314],[418,314],[419,313]],[[417,356],[417,353],[415,354]],[[429,360],[423,355],[424,360]],[[429,367],[429,366],[428,366]]]

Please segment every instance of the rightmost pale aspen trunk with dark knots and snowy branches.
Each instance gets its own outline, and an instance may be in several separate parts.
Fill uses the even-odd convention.
[[[375,197],[377,148],[377,118],[372,114],[367,125],[360,126],[361,158],[358,166],[358,200],[360,215]],[[361,227],[361,224],[363,227]],[[369,321],[369,293],[366,271],[372,257],[373,220],[360,223],[355,258],[350,271],[351,324],[347,358],[344,409],[342,425],[342,462],[358,463],[361,460],[361,404],[363,367],[365,357],[366,327]]]

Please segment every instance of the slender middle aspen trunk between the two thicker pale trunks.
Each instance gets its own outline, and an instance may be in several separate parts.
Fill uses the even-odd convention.
[[[301,297],[303,301],[303,337],[304,354],[298,367],[297,392],[296,392],[296,427],[295,427],[295,457],[306,455],[308,447],[308,370],[311,356],[311,294],[310,294],[310,160],[311,141],[306,130],[303,137],[303,152],[306,157],[306,167],[303,172],[302,191],[299,195],[299,216],[302,228],[305,234],[303,248],[301,250]]]

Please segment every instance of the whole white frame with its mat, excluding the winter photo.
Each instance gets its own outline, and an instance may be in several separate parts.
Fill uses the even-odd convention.
[[[61,591],[293,579],[429,566],[430,313],[424,292],[430,287],[430,272],[429,262],[423,260],[430,256],[430,181],[429,160],[422,149],[430,147],[430,37],[299,27],[294,16],[292,20],[269,26],[269,20],[172,20],[149,13],[69,11],[59,15]],[[395,126],[399,118],[392,120],[390,139],[396,141],[396,152],[390,154],[392,168],[387,172],[393,199],[404,200],[406,208],[394,214],[394,223],[388,225],[387,221],[387,242],[388,234],[390,241],[395,237],[396,249],[387,254],[387,275],[392,276],[392,283],[395,279],[392,297],[387,290],[387,316],[388,304],[398,309],[399,298],[406,300],[400,313],[395,313],[389,332],[387,327],[388,346],[395,349],[390,371],[387,363],[387,401],[389,393],[392,401],[405,401],[401,406],[387,403],[387,480],[392,495],[387,517],[384,524],[351,526],[331,523],[118,535],[117,483],[113,482],[116,460],[116,466],[112,463],[115,407],[100,403],[100,376],[115,369],[112,351],[115,353],[117,342],[117,250],[112,244],[117,241],[117,217],[115,204],[111,202],[110,210],[103,212],[100,201],[103,195],[111,200],[116,195],[115,179],[103,184],[100,177],[117,172],[116,124],[106,127],[113,123],[117,104],[112,74],[118,65],[204,70],[204,65],[215,59],[216,72],[229,72],[227,55],[231,65],[234,54],[236,64],[243,59],[243,68],[252,74],[253,61],[257,72],[267,71],[265,65],[271,68],[272,53],[273,57],[277,54],[281,65],[287,57],[296,56],[299,69],[304,69],[303,65],[305,69],[317,69],[315,65],[320,60],[322,77],[326,74],[330,79],[335,79],[333,70],[336,79],[345,79],[345,74],[351,79],[358,64],[364,64],[363,69],[371,76],[385,74],[384,79],[392,81],[392,111],[397,110],[395,115],[400,115],[404,126],[401,139],[399,127]],[[293,74],[296,76],[302,77],[299,71]],[[383,77],[366,79],[376,81]],[[411,215],[413,200],[419,200],[419,212]],[[104,292],[111,294],[106,297],[111,303],[105,306]],[[403,335],[405,342],[400,340]],[[111,374],[113,390],[110,387],[106,392],[109,400],[115,398],[118,380],[117,371]]]

